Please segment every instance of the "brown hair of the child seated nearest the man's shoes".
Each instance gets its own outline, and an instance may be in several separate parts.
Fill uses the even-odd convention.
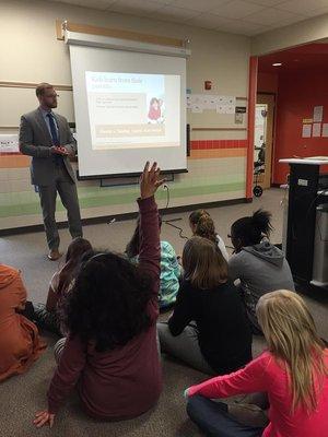
[[[91,243],[82,237],[74,238],[69,245],[66,253],[66,263],[59,272],[58,296],[62,296],[72,280],[82,256],[92,250]]]

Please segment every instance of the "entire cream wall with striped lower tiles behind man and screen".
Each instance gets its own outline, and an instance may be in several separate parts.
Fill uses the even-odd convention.
[[[68,47],[56,38],[57,19],[188,38],[191,40],[191,57],[187,61],[187,87],[192,93],[202,93],[203,82],[210,80],[213,83],[211,94],[247,96],[250,39],[246,36],[50,1],[0,0],[0,82],[45,81],[71,85]],[[58,111],[72,121],[72,93],[60,91],[59,95]],[[245,101],[241,102],[241,105],[245,104]],[[9,132],[1,127],[12,127],[12,132],[17,131],[21,114],[36,106],[34,90],[0,86],[0,133]],[[215,111],[189,114],[188,121],[198,128],[234,127],[233,115],[218,115]],[[188,160],[189,173],[177,175],[169,184],[171,206],[245,197],[246,145],[239,140],[245,140],[246,134],[246,129],[192,132],[191,140],[209,140],[210,144],[211,140],[235,140],[234,146],[230,150],[225,145],[216,151],[196,150]],[[38,198],[30,184],[27,162],[24,168],[17,168],[22,164],[21,156],[7,156],[2,163],[8,164],[2,166],[1,160],[0,156],[0,229],[42,223]],[[137,187],[101,189],[98,181],[84,181],[78,184],[78,190],[83,217],[136,210]],[[164,196],[159,193],[157,198],[160,206],[164,206]],[[57,218],[65,220],[65,213],[59,211]]]

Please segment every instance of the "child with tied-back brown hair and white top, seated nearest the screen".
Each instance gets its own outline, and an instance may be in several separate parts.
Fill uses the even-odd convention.
[[[214,222],[211,215],[206,210],[197,210],[189,215],[189,226],[192,235],[208,238],[218,245],[225,261],[229,261],[229,255],[223,239],[215,231]]]

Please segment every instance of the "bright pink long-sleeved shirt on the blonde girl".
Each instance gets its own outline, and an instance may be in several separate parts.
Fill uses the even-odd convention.
[[[325,351],[325,363],[328,367],[328,350]],[[266,392],[269,397],[270,423],[262,437],[328,436],[328,378],[325,378],[323,388],[318,390],[315,412],[307,413],[303,406],[298,406],[292,413],[288,371],[269,352],[265,352],[238,371],[190,387],[188,397],[201,394],[215,399],[254,392]]]

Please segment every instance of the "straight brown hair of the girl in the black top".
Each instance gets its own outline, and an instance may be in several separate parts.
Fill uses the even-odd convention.
[[[227,280],[227,263],[218,245],[207,238],[196,236],[186,243],[183,265],[196,288],[211,290]]]

